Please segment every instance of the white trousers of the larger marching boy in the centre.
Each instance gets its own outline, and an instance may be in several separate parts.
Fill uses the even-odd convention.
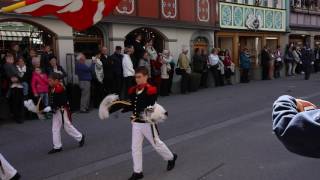
[[[160,140],[157,130],[154,128],[152,135],[151,124],[149,123],[132,123],[132,158],[133,171],[136,173],[142,172],[142,146],[144,137],[150,142],[153,148],[166,161],[173,159],[173,154],[169,148]]]

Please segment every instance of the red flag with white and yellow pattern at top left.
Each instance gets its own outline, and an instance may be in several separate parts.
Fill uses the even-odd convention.
[[[98,23],[118,5],[120,0],[25,0],[2,8],[2,12],[54,15],[76,30]]]

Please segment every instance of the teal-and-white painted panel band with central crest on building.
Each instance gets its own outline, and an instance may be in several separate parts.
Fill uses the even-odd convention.
[[[286,12],[220,2],[220,27],[255,31],[286,31]]]

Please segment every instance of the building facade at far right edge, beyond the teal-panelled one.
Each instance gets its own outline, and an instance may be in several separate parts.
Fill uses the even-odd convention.
[[[320,45],[320,1],[291,0],[290,7],[289,42],[312,48]]]

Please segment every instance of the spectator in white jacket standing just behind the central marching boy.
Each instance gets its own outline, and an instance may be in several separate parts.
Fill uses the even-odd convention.
[[[134,48],[132,45],[126,47],[122,59],[123,77],[125,82],[125,98],[128,97],[128,88],[134,85],[135,70],[133,68],[133,63],[131,60],[131,55],[133,54],[133,52]]]

